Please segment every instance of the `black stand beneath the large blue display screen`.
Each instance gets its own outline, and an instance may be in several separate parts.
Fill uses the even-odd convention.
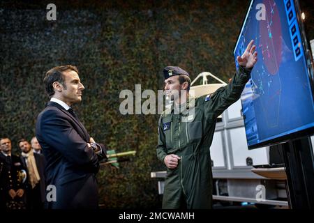
[[[311,138],[294,139],[276,146],[283,152],[290,208],[314,208],[314,159]]]

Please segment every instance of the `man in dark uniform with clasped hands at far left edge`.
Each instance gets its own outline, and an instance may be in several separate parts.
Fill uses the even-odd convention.
[[[0,209],[25,209],[27,172],[20,157],[11,154],[11,141],[0,139]]]

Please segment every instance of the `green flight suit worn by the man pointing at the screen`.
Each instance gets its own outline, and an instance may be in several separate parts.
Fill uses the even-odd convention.
[[[188,102],[184,106],[188,110],[178,112],[171,107],[160,116],[158,159],[164,162],[168,154],[181,157],[177,168],[167,168],[163,208],[211,208],[213,180],[209,147],[216,118],[239,100],[250,77],[251,69],[240,67],[227,86],[195,99],[194,105]]]

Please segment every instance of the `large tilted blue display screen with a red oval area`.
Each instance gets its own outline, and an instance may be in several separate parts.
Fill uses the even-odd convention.
[[[297,13],[292,0],[251,1],[241,26],[237,69],[252,39],[258,57],[241,94],[248,148],[313,134],[313,80]]]

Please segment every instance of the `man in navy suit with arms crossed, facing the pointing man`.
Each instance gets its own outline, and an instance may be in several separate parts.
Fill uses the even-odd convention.
[[[99,160],[106,159],[105,146],[89,137],[71,106],[82,100],[84,86],[75,66],[47,71],[44,79],[50,102],[40,112],[36,137],[46,159],[47,188],[55,188],[55,199],[46,208],[97,208],[95,175]],[[48,194],[47,194],[48,195]]]

